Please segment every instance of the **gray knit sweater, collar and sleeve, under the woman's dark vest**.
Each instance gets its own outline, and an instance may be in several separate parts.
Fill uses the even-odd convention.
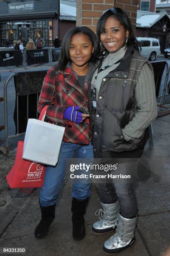
[[[125,47],[122,47],[115,53],[110,53],[103,61],[102,66],[114,64],[117,60],[121,59],[125,54]],[[114,70],[118,64],[115,64],[108,69],[100,72],[96,79],[96,96],[98,99],[99,89],[102,78],[109,72]],[[97,71],[94,73],[91,83],[94,82],[94,77]],[[122,129],[124,138],[129,141],[130,139],[140,138],[145,129],[150,125],[152,120],[157,117],[157,103],[155,96],[155,81],[148,64],[144,64],[141,69],[136,90],[135,97],[137,100],[137,106],[139,111],[134,115],[133,119]]]

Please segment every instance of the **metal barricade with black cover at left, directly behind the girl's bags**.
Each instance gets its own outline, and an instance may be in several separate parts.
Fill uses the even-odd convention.
[[[33,70],[33,71],[25,71],[24,72],[17,72],[17,73],[13,73],[10,75],[10,77],[8,77],[7,81],[5,82],[4,84],[4,117],[5,117],[5,148],[3,147],[1,150],[4,154],[8,154],[9,153],[9,139],[10,138],[15,138],[15,137],[18,137],[20,135],[23,135],[25,134],[25,132],[23,133],[19,133],[19,109],[18,109],[18,98],[20,96],[19,93],[16,93],[16,109],[17,109],[17,131],[16,131],[16,134],[13,134],[13,135],[10,135],[8,134],[8,96],[7,96],[7,87],[8,87],[8,84],[10,82],[10,80],[15,77],[16,74],[19,74],[19,73],[23,73],[23,74],[26,74],[28,72],[30,73],[37,73],[37,72],[44,72],[44,74],[48,71],[48,69],[41,69],[40,70]],[[45,77],[45,75],[44,75]],[[42,87],[42,85],[41,85]],[[39,90],[40,92],[40,90]],[[37,92],[37,102],[38,102],[38,95],[39,95],[39,92]],[[28,109],[29,109],[29,94],[26,95],[27,96],[27,121],[28,121],[28,118],[29,118],[29,113],[28,113]],[[38,118],[38,112],[36,110],[36,118]]]

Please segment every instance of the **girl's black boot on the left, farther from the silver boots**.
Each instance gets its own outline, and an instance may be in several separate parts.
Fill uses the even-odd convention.
[[[34,231],[34,236],[36,238],[41,239],[47,235],[48,229],[55,218],[55,207],[56,204],[47,207],[40,205],[41,220]]]

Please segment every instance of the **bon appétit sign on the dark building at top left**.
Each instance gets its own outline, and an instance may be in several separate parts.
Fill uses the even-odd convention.
[[[34,10],[34,1],[29,1],[25,3],[9,3],[8,11],[9,13],[28,13],[33,12]]]

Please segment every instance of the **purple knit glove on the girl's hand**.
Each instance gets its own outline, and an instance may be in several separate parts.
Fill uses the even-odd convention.
[[[63,113],[63,118],[68,119],[73,123],[81,123],[83,118],[82,118],[82,113],[77,111],[79,110],[79,108],[80,108],[79,106],[66,108],[66,110]]]

